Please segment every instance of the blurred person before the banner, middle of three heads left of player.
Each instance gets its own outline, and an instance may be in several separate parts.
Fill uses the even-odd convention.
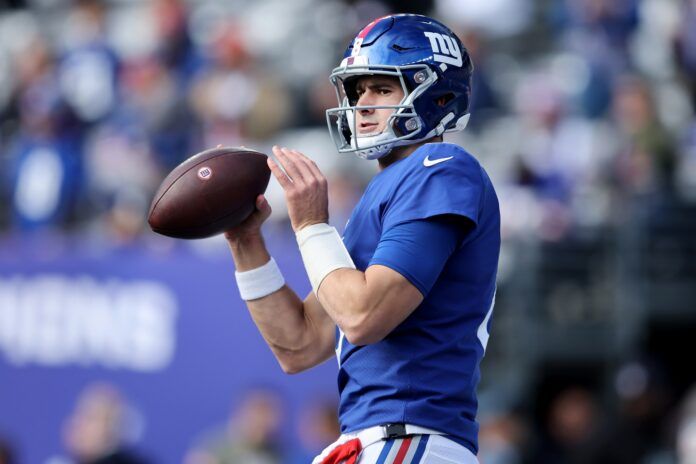
[[[280,397],[270,390],[253,390],[229,422],[210,431],[194,445],[185,464],[279,464],[278,439],[282,420]]]

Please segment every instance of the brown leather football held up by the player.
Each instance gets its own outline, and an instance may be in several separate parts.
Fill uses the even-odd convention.
[[[244,221],[266,191],[267,156],[246,148],[213,148],[187,159],[162,181],[147,221],[175,238],[205,238]]]

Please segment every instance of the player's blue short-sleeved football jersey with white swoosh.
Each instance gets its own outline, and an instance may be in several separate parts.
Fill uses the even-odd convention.
[[[412,257],[375,253],[390,229],[441,215],[464,217],[471,228],[437,267],[437,277],[414,277],[417,267],[432,268],[422,261],[435,259],[427,251],[419,254],[420,266]],[[372,179],[343,241],[357,269],[388,266],[424,300],[378,343],[354,346],[339,332],[341,430],[415,424],[446,433],[476,453],[476,386],[500,251],[498,200],[488,175],[457,145],[423,145]],[[417,245],[438,246],[428,240]]]

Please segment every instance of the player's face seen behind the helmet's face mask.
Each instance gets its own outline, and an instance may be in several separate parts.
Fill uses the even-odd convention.
[[[401,83],[395,77],[365,76],[356,84],[357,106],[398,105],[404,98]],[[377,135],[387,127],[393,108],[362,109],[356,112],[358,137]]]

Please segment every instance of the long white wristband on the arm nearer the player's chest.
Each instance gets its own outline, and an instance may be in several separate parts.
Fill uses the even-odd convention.
[[[325,223],[312,224],[299,230],[295,236],[315,294],[329,273],[344,267],[355,269],[336,228]]]

